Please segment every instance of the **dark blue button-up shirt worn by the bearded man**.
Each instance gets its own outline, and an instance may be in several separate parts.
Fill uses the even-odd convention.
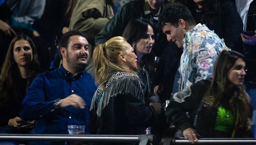
[[[97,86],[86,71],[72,76],[61,65],[60,69],[46,71],[35,77],[22,102],[20,117],[35,120],[35,134],[68,134],[68,125],[85,125],[88,132],[88,110]],[[72,94],[82,97],[85,109],[73,106],[55,108],[56,99]]]

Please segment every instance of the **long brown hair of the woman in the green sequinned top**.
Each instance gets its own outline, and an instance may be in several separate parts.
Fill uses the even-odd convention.
[[[245,57],[236,51],[224,50],[219,54],[214,63],[211,85],[205,95],[210,106],[217,106],[224,97],[230,98],[229,104],[223,105],[231,107],[236,128],[248,126],[251,118],[249,96],[242,85],[233,85],[227,75],[239,58],[245,61]]]

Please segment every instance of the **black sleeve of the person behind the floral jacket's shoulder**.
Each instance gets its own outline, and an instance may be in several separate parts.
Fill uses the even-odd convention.
[[[232,50],[242,53],[242,39],[243,21],[237,12],[237,7],[234,3],[225,1],[222,8],[223,15],[223,39],[227,47]]]

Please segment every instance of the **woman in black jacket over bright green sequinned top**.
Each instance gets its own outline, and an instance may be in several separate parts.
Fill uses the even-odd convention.
[[[173,95],[166,115],[190,142],[202,137],[251,137],[250,98],[244,91],[245,58],[224,50],[214,64],[213,78]],[[187,117],[186,112],[189,112]]]

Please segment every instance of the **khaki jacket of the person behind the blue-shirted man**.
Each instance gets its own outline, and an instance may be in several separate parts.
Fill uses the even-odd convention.
[[[113,17],[113,10],[106,1],[78,1],[71,16],[69,30],[81,30],[86,33],[89,43],[94,44],[94,37]]]

